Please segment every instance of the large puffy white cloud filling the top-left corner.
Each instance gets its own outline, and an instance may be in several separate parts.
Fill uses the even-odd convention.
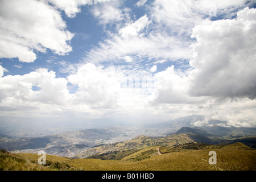
[[[42,1],[1,1],[0,24],[0,57],[33,62],[34,49],[58,55],[72,51],[67,42],[73,34],[65,30],[60,12]]]

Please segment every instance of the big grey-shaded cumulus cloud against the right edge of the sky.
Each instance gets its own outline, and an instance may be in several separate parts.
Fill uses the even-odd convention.
[[[193,96],[256,96],[256,10],[245,8],[237,19],[193,28],[195,68],[189,76]]]

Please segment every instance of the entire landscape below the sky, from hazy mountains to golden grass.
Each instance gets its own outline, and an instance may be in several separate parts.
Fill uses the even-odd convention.
[[[193,118],[195,115],[158,125],[116,125],[42,137],[2,137],[0,164],[2,169],[9,168],[19,156],[20,161],[31,163],[29,170],[256,169],[255,128],[218,125],[222,121],[198,127],[193,126]],[[41,150],[46,152],[46,168],[36,166]],[[218,166],[208,163],[212,150],[217,152]]]

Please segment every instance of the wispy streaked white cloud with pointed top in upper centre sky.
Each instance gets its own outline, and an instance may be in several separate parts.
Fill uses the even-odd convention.
[[[192,49],[189,47],[189,42],[184,42],[175,36],[168,36],[165,32],[145,33],[150,23],[151,20],[144,15],[135,22],[126,24],[119,30],[119,34],[112,34],[97,48],[87,52],[84,60],[102,63],[121,62],[125,56],[137,57],[137,60],[144,58],[179,60],[191,57]]]

